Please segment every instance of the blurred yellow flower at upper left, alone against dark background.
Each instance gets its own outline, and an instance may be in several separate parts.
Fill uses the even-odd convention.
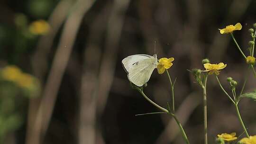
[[[34,35],[45,35],[50,30],[50,25],[45,20],[37,20],[29,25],[29,31]]]

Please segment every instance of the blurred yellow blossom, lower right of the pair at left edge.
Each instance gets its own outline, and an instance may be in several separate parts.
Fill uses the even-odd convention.
[[[33,85],[33,76],[30,74],[22,73],[16,82],[22,88],[30,88],[31,85]]]

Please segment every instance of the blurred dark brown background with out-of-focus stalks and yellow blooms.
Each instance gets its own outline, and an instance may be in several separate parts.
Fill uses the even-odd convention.
[[[1,0],[1,144],[183,144],[172,117],[155,112],[128,82],[121,60],[131,54],[174,57],[176,114],[191,144],[203,142],[202,90],[187,69],[201,60],[228,66],[219,75],[238,81],[247,65],[218,28],[240,22],[234,33],[248,54],[255,0]],[[246,92],[256,88],[248,73]],[[146,94],[170,102],[166,74],[153,72]],[[209,143],[243,130],[235,108],[213,76],[208,80]],[[251,135],[256,103],[240,102]]]

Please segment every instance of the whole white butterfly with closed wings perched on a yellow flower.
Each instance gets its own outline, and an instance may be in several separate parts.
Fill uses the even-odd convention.
[[[128,73],[128,79],[135,85],[141,87],[150,78],[157,67],[157,55],[135,54],[122,60],[124,69]]]

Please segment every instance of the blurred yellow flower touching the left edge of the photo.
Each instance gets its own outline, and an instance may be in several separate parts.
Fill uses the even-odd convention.
[[[2,78],[7,81],[17,81],[22,74],[20,69],[15,65],[6,66],[2,69]]]

